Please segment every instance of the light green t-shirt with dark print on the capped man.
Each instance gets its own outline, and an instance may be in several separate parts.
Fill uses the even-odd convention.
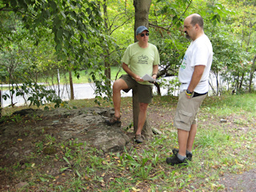
[[[158,48],[149,43],[149,46],[142,48],[138,46],[138,42],[130,44],[127,47],[121,62],[126,63],[134,74],[138,74],[141,78],[145,74],[152,75],[153,65],[160,63]],[[150,82],[139,82],[141,84],[150,85]]]

